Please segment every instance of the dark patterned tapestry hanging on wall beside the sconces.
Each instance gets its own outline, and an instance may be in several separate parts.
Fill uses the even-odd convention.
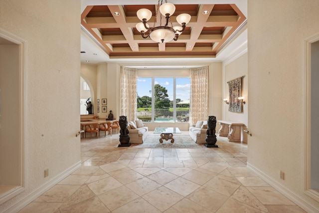
[[[244,76],[242,76],[244,77]],[[241,97],[241,79],[242,77],[236,78],[234,80],[228,81],[229,87],[229,107],[230,112],[241,112],[241,102],[238,97]]]

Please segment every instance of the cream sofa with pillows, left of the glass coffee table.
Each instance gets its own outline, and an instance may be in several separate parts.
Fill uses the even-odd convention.
[[[143,144],[149,134],[149,128],[141,120],[128,122],[130,143]]]

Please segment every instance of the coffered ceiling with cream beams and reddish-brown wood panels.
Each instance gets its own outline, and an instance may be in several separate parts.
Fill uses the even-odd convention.
[[[110,5],[106,3],[104,5],[100,1],[99,5],[85,5],[81,14],[82,31],[95,41],[110,59],[215,58],[216,54],[247,23],[246,16],[235,3],[219,1],[214,4],[181,4],[184,1],[178,2],[179,4],[174,3],[176,10],[168,25],[179,25],[176,22],[176,16],[181,13],[190,14],[191,20],[186,24],[185,30],[179,35],[177,41],[157,43],[150,38],[144,39],[136,29],[135,25],[141,22],[136,12],[141,8],[152,11],[153,16],[148,23],[153,27],[157,4]],[[147,3],[151,1],[148,0]],[[204,11],[208,11],[207,14],[204,14]],[[158,16],[155,26],[160,25],[159,19]],[[163,19],[164,17],[162,17],[161,25],[163,25]]]

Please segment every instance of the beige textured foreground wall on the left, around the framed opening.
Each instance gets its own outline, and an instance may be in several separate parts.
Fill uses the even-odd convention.
[[[4,210],[81,160],[80,138],[75,137],[80,1],[1,0],[0,14],[0,28],[26,40],[26,184],[24,192],[0,205]]]

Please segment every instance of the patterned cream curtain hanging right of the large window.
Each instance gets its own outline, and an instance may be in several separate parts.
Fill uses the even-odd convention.
[[[190,69],[189,122],[208,119],[208,66]]]

